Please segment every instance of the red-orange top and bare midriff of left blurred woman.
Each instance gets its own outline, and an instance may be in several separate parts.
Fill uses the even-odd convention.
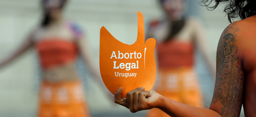
[[[36,44],[43,79],[50,82],[78,79],[75,69],[78,48],[76,43],[59,38],[40,41]]]

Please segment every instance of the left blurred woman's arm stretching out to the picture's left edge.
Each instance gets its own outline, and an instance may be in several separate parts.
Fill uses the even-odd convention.
[[[13,53],[10,54],[10,56],[7,56],[6,58],[3,58],[2,61],[0,61],[0,69],[3,68],[3,66],[11,63],[13,60],[18,58],[22,53],[26,52],[29,48],[33,46],[32,41],[32,34],[21,44],[20,47],[16,49]]]

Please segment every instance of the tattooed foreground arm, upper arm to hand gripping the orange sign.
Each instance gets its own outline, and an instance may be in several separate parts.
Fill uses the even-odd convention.
[[[239,117],[243,102],[244,73],[239,51],[238,25],[230,24],[219,40],[214,94],[209,109],[193,107],[167,99],[154,91],[137,88],[121,98],[123,89],[115,92],[115,103],[137,112],[159,108],[172,117]]]

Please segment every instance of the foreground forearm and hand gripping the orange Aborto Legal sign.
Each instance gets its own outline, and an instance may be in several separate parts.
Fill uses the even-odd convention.
[[[155,91],[144,91],[144,88],[137,88],[127,93],[126,99],[121,98],[123,88],[115,92],[115,103],[120,104],[131,112],[159,108],[172,117],[220,117],[212,109],[203,109],[189,106],[180,102],[168,99]]]

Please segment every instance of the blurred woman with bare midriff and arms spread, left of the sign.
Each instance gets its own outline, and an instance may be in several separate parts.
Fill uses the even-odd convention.
[[[43,69],[38,117],[90,117],[81,82],[76,74],[78,53],[94,70],[78,25],[62,15],[67,0],[42,0],[43,20],[29,38],[0,67],[9,64],[29,48],[37,50]]]

